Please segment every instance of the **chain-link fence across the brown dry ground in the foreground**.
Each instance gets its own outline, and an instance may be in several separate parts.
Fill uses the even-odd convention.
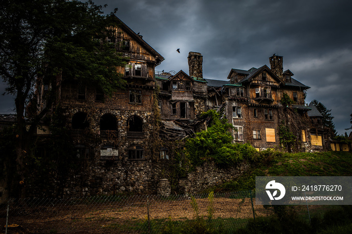
[[[8,233],[177,233],[192,225],[231,233],[252,218],[274,214],[273,207],[255,205],[253,191],[10,199],[0,208],[0,224]],[[291,206],[306,222],[331,208]]]

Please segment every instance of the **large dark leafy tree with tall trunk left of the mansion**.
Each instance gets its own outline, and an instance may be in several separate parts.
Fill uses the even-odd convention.
[[[5,0],[0,9],[0,76],[6,93],[14,95],[17,114],[17,184],[26,177],[26,163],[37,124],[53,103],[60,81],[88,82],[106,93],[124,84],[116,66],[124,61],[104,43],[113,13],[104,16],[102,7],[76,0]],[[38,112],[33,96],[38,81],[52,85],[52,96]],[[28,103],[35,113],[28,121]],[[29,128],[28,128],[29,126]],[[23,189],[21,196],[23,196]]]

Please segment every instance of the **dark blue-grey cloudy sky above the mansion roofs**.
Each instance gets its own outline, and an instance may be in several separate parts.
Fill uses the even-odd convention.
[[[165,60],[156,70],[188,73],[190,51],[203,55],[203,76],[226,80],[231,68],[267,64],[274,53],[284,70],[310,86],[334,116],[338,134],[352,113],[352,2],[349,0],[96,0],[119,17]],[[181,53],[176,52],[180,48]],[[3,90],[0,90],[3,92]],[[0,113],[13,99],[0,97]],[[349,131],[348,131],[349,132]]]

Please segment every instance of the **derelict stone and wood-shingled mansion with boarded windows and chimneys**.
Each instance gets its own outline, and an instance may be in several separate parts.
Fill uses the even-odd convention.
[[[309,87],[293,78],[292,71],[284,70],[282,56],[271,56],[270,67],[229,69],[227,80],[204,78],[203,56],[198,52],[189,52],[189,73],[159,72],[155,67],[163,56],[121,20],[116,18],[116,22],[116,34],[107,41],[127,61],[126,66],[118,67],[126,87],[108,96],[92,85],[63,82],[60,78],[57,81],[54,103],[62,109],[75,157],[89,159],[84,172],[76,171],[67,178],[64,194],[156,191],[162,179],[170,178],[167,164],[175,157],[177,142],[206,129],[200,115],[209,109],[234,126],[234,142],[249,143],[261,151],[282,148],[280,125],[284,118],[290,122],[282,108],[288,107],[295,118],[303,120],[295,133],[299,151],[330,147],[321,114],[313,111],[314,106],[305,105]],[[52,85],[43,81],[38,86],[39,108],[45,107],[45,95]],[[282,99],[287,96],[291,102],[286,105]],[[38,137],[51,135],[49,126],[38,127]],[[162,141],[156,142],[156,135]],[[49,151],[45,141],[37,151],[45,157]],[[194,177],[193,181],[209,185],[211,182],[206,180],[214,181],[216,177],[226,181],[239,171],[217,172],[211,178]],[[179,186],[190,191],[187,189],[192,183],[189,178],[180,181]]]

